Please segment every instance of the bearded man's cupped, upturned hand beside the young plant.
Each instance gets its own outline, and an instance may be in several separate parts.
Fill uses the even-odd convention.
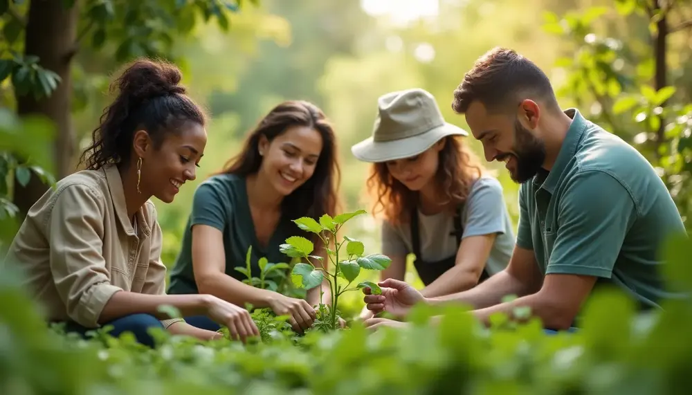
[[[363,288],[365,307],[373,314],[388,311],[397,317],[403,317],[408,310],[426,298],[406,282],[398,279],[385,279],[377,283],[382,289],[382,295],[372,295],[370,288]]]

